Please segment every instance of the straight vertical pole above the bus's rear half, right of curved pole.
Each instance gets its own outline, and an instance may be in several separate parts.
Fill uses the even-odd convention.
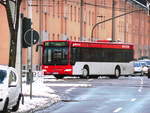
[[[115,0],[112,0],[112,41],[115,41]]]

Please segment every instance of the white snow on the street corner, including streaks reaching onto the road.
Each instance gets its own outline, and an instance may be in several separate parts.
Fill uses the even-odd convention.
[[[60,81],[65,81],[64,79],[55,79],[53,76],[43,76],[36,75],[34,76],[34,82],[32,84],[32,99],[30,98],[30,85],[26,84],[26,77],[23,78],[22,91],[24,95],[24,104],[19,106],[19,110],[15,113],[29,113],[48,107],[53,103],[59,102],[61,100],[60,96],[51,89],[51,86],[57,87],[68,87],[66,94],[71,92],[77,87],[91,87],[91,84],[67,84],[59,83]],[[45,82],[46,81],[46,82]],[[58,83],[51,83],[52,81],[58,81]],[[71,87],[71,88],[69,88]],[[22,101],[22,100],[21,100]]]

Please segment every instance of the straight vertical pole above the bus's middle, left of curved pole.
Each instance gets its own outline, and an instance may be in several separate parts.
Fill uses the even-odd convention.
[[[84,1],[80,1],[80,41],[83,40],[83,3]]]

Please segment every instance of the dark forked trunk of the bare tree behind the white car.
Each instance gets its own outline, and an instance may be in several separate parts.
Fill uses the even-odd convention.
[[[17,34],[19,28],[19,12],[21,2],[22,0],[0,0],[0,4],[2,4],[6,9],[10,30],[9,66],[11,67],[15,67],[16,63]],[[15,12],[14,14],[12,14],[12,9]]]

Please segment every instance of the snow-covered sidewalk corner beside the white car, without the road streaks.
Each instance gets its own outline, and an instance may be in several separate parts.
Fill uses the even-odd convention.
[[[48,87],[46,83],[43,83],[43,81],[44,76],[34,77],[32,99],[30,99],[30,85],[23,82],[24,105],[20,101],[19,110],[15,113],[30,113],[60,101],[60,97],[55,91]]]

